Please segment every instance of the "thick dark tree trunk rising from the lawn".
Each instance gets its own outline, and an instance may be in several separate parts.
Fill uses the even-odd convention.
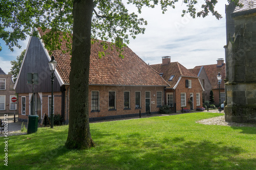
[[[74,0],[74,26],[70,72],[70,122],[68,149],[95,146],[89,126],[89,66],[93,0]]]

